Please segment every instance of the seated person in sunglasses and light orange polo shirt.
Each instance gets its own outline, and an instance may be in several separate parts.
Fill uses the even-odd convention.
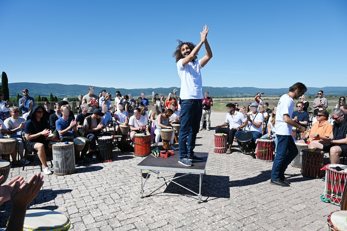
[[[305,139],[298,140],[298,143],[310,143],[312,140],[329,139],[332,133],[332,125],[329,123],[329,112],[319,109],[316,115],[317,121],[312,125],[312,128],[307,131]]]

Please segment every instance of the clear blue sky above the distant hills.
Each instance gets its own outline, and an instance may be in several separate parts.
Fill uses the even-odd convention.
[[[207,24],[204,86],[346,86],[345,0],[0,1],[0,17],[10,83],[180,86],[176,39]]]

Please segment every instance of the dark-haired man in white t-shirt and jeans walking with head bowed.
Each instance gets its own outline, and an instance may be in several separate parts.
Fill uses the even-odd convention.
[[[291,137],[293,126],[301,132],[305,128],[291,119],[293,114],[294,100],[299,99],[307,88],[303,83],[295,83],[289,88],[289,93],[284,94],[277,104],[276,113],[276,136],[278,139],[277,154],[272,164],[270,184],[288,187],[289,181],[285,178],[288,164],[298,155],[298,149]]]

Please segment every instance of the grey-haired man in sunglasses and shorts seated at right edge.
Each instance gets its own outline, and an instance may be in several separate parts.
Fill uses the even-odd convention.
[[[319,113],[321,114],[321,113]],[[330,163],[339,164],[340,156],[347,155],[347,118],[340,108],[332,109],[331,119],[335,121],[329,139],[312,140],[308,145],[310,149],[319,149],[330,152]]]

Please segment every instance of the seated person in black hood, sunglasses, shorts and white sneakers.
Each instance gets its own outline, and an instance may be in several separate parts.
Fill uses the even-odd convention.
[[[37,151],[41,163],[44,167],[43,173],[46,175],[52,174],[46,162],[45,150],[52,148],[52,143],[60,142],[58,140],[47,140],[50,134],[48,112],[40,105],[33,107],[27,117],[24,131],[25,137],[28,140],[26,148],[29,151]]]

